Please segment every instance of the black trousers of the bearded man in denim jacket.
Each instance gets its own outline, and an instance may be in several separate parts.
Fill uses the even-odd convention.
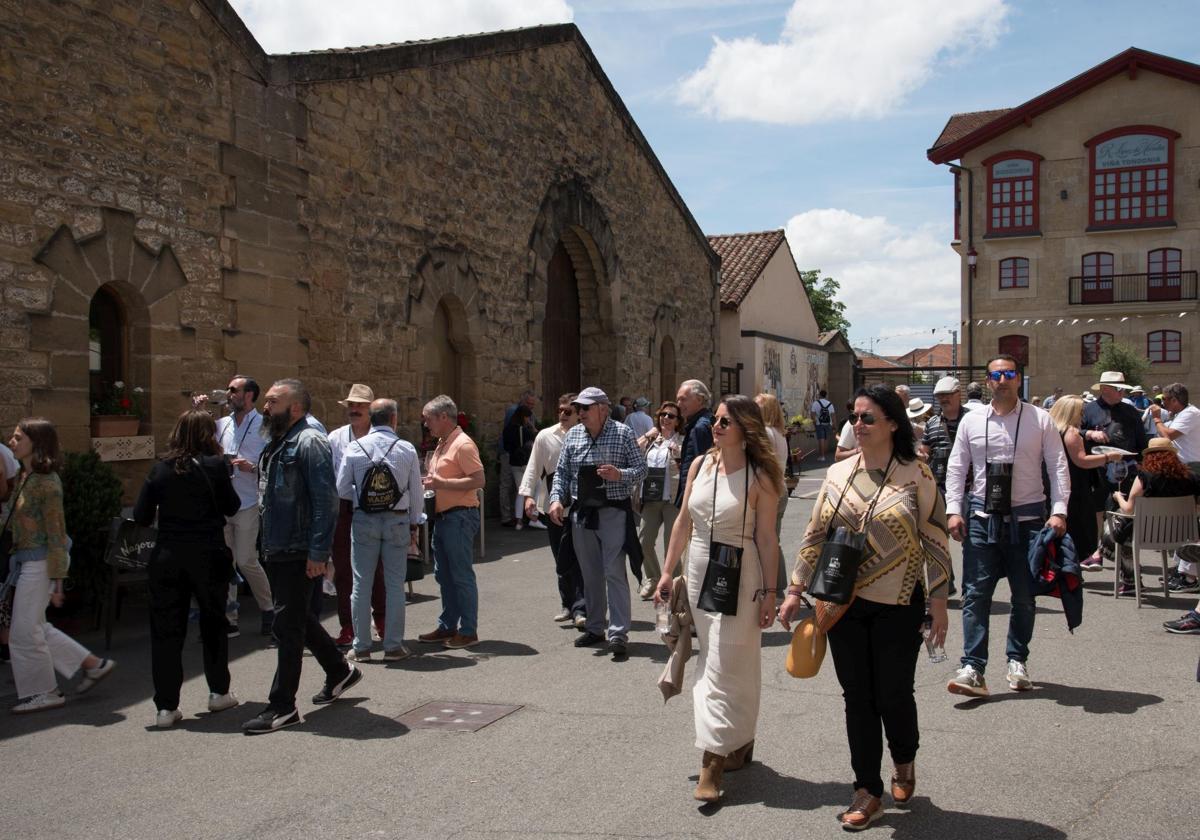
[[[272,712],[290,712],[296,707],[305,648],[324,668],[326,685],[344,679],[350,671],[341,650],[310,610],[313,587],[320,586],[320,578],[308,577],[307,553],[270,554],[263,566],[271,581],[277,644],[275,680],[268,706]]]

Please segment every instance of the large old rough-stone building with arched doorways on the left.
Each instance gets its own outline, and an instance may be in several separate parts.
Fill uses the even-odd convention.
[[[504,406],[716,368],[719,259],[570,24],[268,55],[226,0],[28,4],[0,31],[0,425],[300,376]],[[664,383],[670,383],[665,386]],[[145,462],[125,464],[140,479]]]

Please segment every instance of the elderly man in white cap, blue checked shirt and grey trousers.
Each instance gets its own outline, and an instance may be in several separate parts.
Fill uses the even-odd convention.
[[[608,652],[613,659],[624,659],[631,622],[626,551],[641,565],[630,498],[634,486],[646,478],[646,458],[632,430],[610,416],[604,391],[584,388],[574,404],[581,420],[563,439],[548,514],[554,524],[563,524],[564,502],[570,500],[571,544],[588,611],[584,634],[575,647],[605,641],[607,614]]]

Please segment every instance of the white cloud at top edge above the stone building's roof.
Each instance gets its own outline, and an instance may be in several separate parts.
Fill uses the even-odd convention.
[[[362,47],[574,19],[566,0],[230,0],[268,53]]]

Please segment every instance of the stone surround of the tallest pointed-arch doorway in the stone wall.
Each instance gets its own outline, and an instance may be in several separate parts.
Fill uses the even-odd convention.
[[[529,330],[533,370],[529,379],[544,380],[542,324],[546,319],[547,269],[562,244],[571,258],[578,286],[581,312],[580,386],[599,385],[616,398],[620,389],[624,344],[622,323],[620,260],[604,208],[578,178],[550,187],[529,235],[527,284],[533,305]],[[554,400],[557,395],[542,395]]]

